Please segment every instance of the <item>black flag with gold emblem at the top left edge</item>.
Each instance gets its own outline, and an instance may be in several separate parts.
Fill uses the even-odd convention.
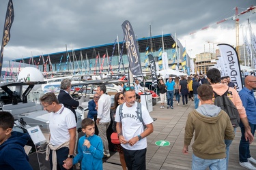
[[[11,34],[10,29],[12,27],[12,22],[14,22],[14,6],[12,3],[12,0],[9,0],[6,16],[5,16],[5,23],[3,26],[3,41],[1,45],[1,61],[0,61],[0,75],[2,71],[2,65],[3,65],[3,48],[8,44]]]

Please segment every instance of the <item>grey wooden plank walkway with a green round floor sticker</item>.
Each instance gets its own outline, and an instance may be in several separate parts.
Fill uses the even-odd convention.
[[[153,111],[150,112],[154,121],[154,132],[147,137],[147,169],[149,170],[175,170],[191,169],[191,160],[193,150],[191,145],[188,148],[188,155],[182,154],[184,144],[184,131],[188,113],[194,109],[193,101],[188,101],[188,105],[173,105],[173,109],[160,109],[160,103],[154,105]],[[244,169],[239,165],[238,148],[240,143],[241,132],[238,127],[236,137],[231,144],[229,151],[229,169]],[[156,146],[156,141],[169,141],[169,146]],[[192,139],[193,141],[193,139]],[[191,143],[192,144],[192,143]],[[252,156],[256,157],[256,140],[251,144]],[[255,155],[254,155],[255,154]],[[119,165],[118,153],[113,154],[111,158],[103,163],[104,170],[122,169]],[[255,165],[256,166],[256,165]]]

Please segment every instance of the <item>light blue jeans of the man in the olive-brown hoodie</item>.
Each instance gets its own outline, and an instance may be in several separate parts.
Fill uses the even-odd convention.
[[[192,156],[192,169],[193,170],[205,170],[206,168],[211,170],[226,169],[226,158],[223,159],[202,159],[195,154]]]

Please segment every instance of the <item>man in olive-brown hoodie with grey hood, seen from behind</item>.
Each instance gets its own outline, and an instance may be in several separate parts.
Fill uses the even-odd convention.
[[[224,139],[233,140],[233,126],[227,113],[213,105],[212,86],[203,84],[197,92],[201,105],[188,114],[182,152],[188,154],[195,131],[192,169],[227,169]]]

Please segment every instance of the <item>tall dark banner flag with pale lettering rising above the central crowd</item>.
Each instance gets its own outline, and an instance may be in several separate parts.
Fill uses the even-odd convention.
[[[130,71],[133,75],[141,75],[142,69],[139,48],[137,46],[137,41],[134,35],[134,31],[132,29],[132,25],[128,20],[123,22],[122,29],[124,32],[124,39],[126,40],[126,49],[130,65]]]

